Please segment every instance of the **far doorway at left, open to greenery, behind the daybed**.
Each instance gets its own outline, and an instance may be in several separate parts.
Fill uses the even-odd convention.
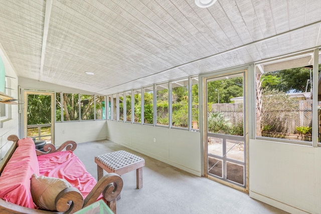
[[[24,137],[55,143],[55,94],[24,91]]]

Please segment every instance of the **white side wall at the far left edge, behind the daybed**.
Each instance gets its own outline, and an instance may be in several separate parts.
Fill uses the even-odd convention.
[[[8,78],[8,88],[12,88],[13,90],[8,90],[7,94],[18,99],[18,77],[2,50],[3,47],[0,45],[0,57],[5,65],[6,76],[14,77]],[[3,158],[12,145],[12,142],[8,142],[7,140],[8,136],[11,134],[19,135],[18,105],[8,106],[8,111],[9,118],[0,122],[0,159]]]

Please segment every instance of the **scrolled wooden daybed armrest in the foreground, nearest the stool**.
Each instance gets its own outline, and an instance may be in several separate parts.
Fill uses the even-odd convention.
[[[122,189],[122,178],[116,173],[108,173],[100,178],[84,200],[84,207],[97,201],[102,193],[107,205],[116,214],[116,198]]]

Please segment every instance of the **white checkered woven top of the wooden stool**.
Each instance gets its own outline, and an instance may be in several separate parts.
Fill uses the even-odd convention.
[[[96,158],[112,170],[143,160],[142,157],[123,150],[98,155]]]

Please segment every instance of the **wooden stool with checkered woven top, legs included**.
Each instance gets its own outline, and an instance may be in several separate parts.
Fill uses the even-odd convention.
[[[97,163],[98,180],[103,176],[103,169],[118,175],[136,169],[136,186],[138,189],[142,187],[142,167],[145,165],[142,157],[120,150],[96,156],[95,163]]]

